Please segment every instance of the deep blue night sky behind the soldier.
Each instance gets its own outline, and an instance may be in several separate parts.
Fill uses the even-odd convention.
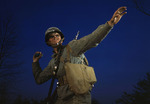
[[[111,19],[115,10],[127,6],[127,14],[114,26],[109,35],[96,47],[87,51],[98,82],[92,97],[102,104],[112,104],[124,91],[150,70],[150,17],[137,11],[131,0],[1,0],[1,16],[12,14],[19,30],[19,44],[23,48],[24,74],[17,84],[18,92],[29,98],[47,96],[50,81],[37,85],[32,75],[32,56],[41,51],[41,67],[47,66],[52,49],[44,42],[47,28],[62,30],[65,42],[90,34],[99,25]],[[143,5],[148,8],[149,0]],[[150,10],[150,9],[149,9]]]

